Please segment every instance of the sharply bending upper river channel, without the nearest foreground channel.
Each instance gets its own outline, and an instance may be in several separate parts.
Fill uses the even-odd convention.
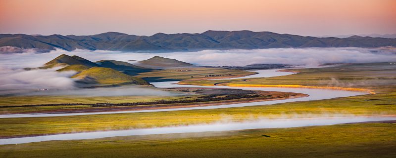
[[[278,72],[277,70],[258,70],[258,71],[253,71],[253,72],[257,72],[258,74],[248,76],[248,77],[262,78],[262,77],[275,77],[275,76],[285,76],[285,75],[295,74],[295,73],[289,73],[289,72]],[[242,78],[247,79],[248,77],[242,77]],[[232,79],[240,79],[240,78],[232,78]],[[199,85],[179,85],[179,84],[176,84],[177,82],[178,81],[151,82],[151,84],[153,84],[155,87],[158,87],[158,88],[172,88],[172,87],[213,88],[214,87],[214,86],[199,86]],[[321,100],[321,99],[331,99],[331,98],[338,98],[338,97],[348,97],[348,96],[368,94],[366,92],[333,90],[333,89],[283,88],[283,87],[230,87],[230,86],[215,86],[215,87],[217,87],[217,88],[237,88],[237,89],[246,89],[246,90],[295,92],[295,93],[308,94],[309,96],[302,97],[302,98],[283,99],[283,100],[271,100],[271,101],[225,104],[225,105],[216,105],[216,106],[202,106],[202,107],[191,107],[191,108],[131,110],[131,111],[113,111],[113,112],[79,111],[78,113],[57,112],[57,113],[11,114],[11,115],[0,115],[0,118],[61,117],[61,116],[77,116],[77,115],[147,113],[147,112],[164,112],[164,111],[180,111],[180,110],[218,109],[218,108],[233,108],[233,107],[245,107],[245,106],[255,106],[255,105],[271,105],[271,104],[278,104],[278,103]]]

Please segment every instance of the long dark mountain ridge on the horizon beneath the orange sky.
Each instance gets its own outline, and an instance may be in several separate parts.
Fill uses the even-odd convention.
[[[396,39],[353,36],[318,38],[290,34],[252,31],[206,31],[201,34],[163,34],[136,36],[107,32],[90,36],[0,34],[0,48],[11,46],[49,51],[114,50],[114,51],[193,51],[203,49],[257,49],[303,47],[382,47],[396,46]],[[0,49],[1,50],[1,49]],[[3,49],[5,51],[5,49]],[[13,50],[7,47],[7,52]]]

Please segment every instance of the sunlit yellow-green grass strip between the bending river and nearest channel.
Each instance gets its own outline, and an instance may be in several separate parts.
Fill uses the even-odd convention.
[[[0,118],[0,136],[119,130],[210,123],[222,120],[255,120],[258,118],[394,115],[396,114],[395,95],[394,92],[392,94],[361,95],[318,101],[211,110],[45,118]]]

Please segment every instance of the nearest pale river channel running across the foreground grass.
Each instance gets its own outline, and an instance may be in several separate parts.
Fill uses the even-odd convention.
[[[113,131],[95,131],[81,133],[54,134],[33,137],[8,138],[0,139],[0,145],[5,144],[22,144],[31,142],[51,141],[51,140],[80,140],[80,139],[97,139],[118,136],[137,136],[152,135],[158,138],[156,134],[181,134],[195,132],[227,132],[233,130],[260,129],[260,128],[289,128],[305,127],[317,125],[332,125],[340,123],[366,122],[366,121],[386,121],[394,120],[395,116],[370,116],[370,117],[320,117],[320,118],[281,118],[281,119],[259,119],[256,121],[242,122],[215,122],[207,124],[193,124],[181,126],[165,126],[143,129],[113,130]],[[196,133],[198,136],[210,136],[212,133]],[[163,136],[163,135],[161,135]],[[264,135],[263,135],[264,136]],[[280,138],[278,136],[268,136],[270,138]]]

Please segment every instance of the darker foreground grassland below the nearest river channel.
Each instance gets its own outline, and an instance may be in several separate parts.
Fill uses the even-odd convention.
[[[393,158],[395,148],[396,123],[357,123],[1,145],[0,157]]]

